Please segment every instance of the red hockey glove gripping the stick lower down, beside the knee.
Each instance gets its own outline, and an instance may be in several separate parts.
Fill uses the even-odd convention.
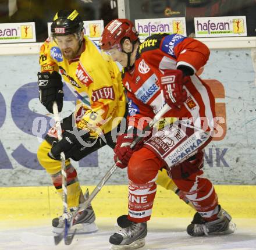
[[[122,134],[119,135],[116,141],[116,147],[114,148],[114,160],[116,166],[124,169],[127,167],[131,155],[134,151],[137,151],[143,146],[143,141],[138,142],[133,149],[130,148],[131,142],[133,142],[136,134]]]

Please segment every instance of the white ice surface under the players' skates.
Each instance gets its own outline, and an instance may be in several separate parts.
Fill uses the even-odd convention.
[[[148,223],[146,244],[141,250],[255,250],[256,219],[236,219],[234,234],[210,237],[190,237],[186,226],[191,218],[152,218]],[[76,235],[71,245],[61,242],[54,245],[51,233],[51,220],[33,222],[1,222],[0,249],[110,249],[109,236],[116,231],[115,218],[98,217],[99,231],[93,234]],[[48,236],[48,237],[47,237]],[[25,238],[24,238],[25,237]],[[26,238],[27,237],[27,238]],[[37,241],[39,239],[39,241]],[[46,239],[46,240],[45,240]],[[27,243],[22,242],[29,241]],[[42,243],[42,240],[45,240]],[[29,244],[28,244],[29,243]]]

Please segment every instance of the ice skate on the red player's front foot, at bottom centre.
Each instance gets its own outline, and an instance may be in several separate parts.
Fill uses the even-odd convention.
[[[145,245],[147,222],[134,223],[127,219],[127,215],[122,215],[118,218],[118,225],[121,229],[109,238],[111,250],[131,250]]]

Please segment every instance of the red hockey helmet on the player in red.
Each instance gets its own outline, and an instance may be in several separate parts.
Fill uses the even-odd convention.
[[[114,19],[104,28],[99,45],[101,49],[108,50],[118,45],[121,49],[122,38],[127,37],[131,42],[138,40],[138,33],[130,20]]]

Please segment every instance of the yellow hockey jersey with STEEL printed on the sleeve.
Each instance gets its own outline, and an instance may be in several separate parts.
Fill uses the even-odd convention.
[[[41,46],[41,72],[56,71],[77,97],[76,123],[90,129],[91,135],[108,133],[118,125],[126,109],[121,73],[109,56],[102,56],[97,45],[84,36],[80,56],[67,60],[54,41]],[[115,121],[115,124],[112,124]]]

